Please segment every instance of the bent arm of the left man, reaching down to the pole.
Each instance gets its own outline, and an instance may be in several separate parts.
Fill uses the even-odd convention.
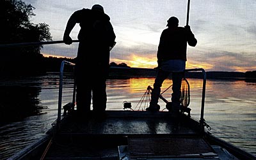
[[[65,29],[65,32],[64,32],[64,35],[63,35],[63,41],[66,45],[72,44],[72,38],[69,36],[69,34],[71,33],[72,29],[76,25],[75,13],[73,13],[71,15],[71,17],[68,19],[66,29]]]

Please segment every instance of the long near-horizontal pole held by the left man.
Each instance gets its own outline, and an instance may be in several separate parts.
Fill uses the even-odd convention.
[[[72,42],[79,42],[79,40],[73,40]],[[35,45],[51,45],[64,43],[64,41],[38,41],[38,42],[28,42],[28,43],[12,43],[12,44],[4,44],[0,45],[0,48],[8,48],[8,47],[28,47]]]

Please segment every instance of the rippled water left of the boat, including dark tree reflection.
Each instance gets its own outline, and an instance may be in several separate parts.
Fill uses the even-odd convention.
[[[57,117],[58,73],[0,79],[0,159],[35,142]],[[63,82],[63,103],[70,102],[73,76]]]

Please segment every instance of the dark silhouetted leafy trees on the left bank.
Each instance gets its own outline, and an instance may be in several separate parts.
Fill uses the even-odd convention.
[[[49,25],[33,24],[35,16],[31,4],[18,0],[0,1],[0,43],[24,43],[51,40]],[[0,72],[6,75],[24,75],[41,71],[42,46],[0,48]]]

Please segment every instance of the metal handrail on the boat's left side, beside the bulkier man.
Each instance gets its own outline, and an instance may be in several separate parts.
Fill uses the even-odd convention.
[[[59,98],[58,98],[58,117],[57,117],[57,122],[56,126],[57,128],[60,127],[60,120],[61,120],[61,103],[62,103],[62,87],[63,87],[63,71],[64,71],[64,66],[69,65],[69,66],[75,66],[76,64],[68,61],[62,61],[61,62],[61,67],[60,67],[60,87],[59,87]],[[72,99],[72,105],[75,103],[75,95],[74,93],[76,92],[76,84],[74,84],[74,91],[73,91],[73,99]]]

